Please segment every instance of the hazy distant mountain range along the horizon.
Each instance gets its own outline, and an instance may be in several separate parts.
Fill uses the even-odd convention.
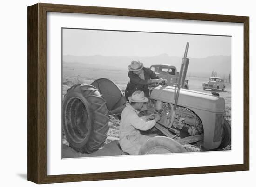
[[[205,58],[189,58],[188,74],[196,77],[210,77],[212,71],[216,71],[218,77],[228,76],[231,72],[231,56],[208,56]],[[145,67],[152,64],[170,64],[180,70],[182,57],[161,54],[157,56],[73,56],[64,55],[63,63],[79,63],[82,66],[100,69],[128,70],[132,60],[141,61]],[[71,64],[69,64],[70,66]]]

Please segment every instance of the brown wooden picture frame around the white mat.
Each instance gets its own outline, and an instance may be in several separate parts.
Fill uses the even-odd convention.
[[[47,175],[47,12],[243,23],[243,164],[89,174]],[[249,17],[38,3],[28,7],[28,180],[43,184],[249,170]]]

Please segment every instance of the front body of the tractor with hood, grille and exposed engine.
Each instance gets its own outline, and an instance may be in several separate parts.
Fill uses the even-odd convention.
[[[162,115],[159,129],[168,129],[181,140],[202,136],[204,148],[218,148],[223,137],[225,100],[214,92],[181,89],[175,116],[172,116],[175,94],[173,86],[158,86],[151,91],[150,100],[155,101],[155,112]],[[164,129],[162,133],[172,136]]]

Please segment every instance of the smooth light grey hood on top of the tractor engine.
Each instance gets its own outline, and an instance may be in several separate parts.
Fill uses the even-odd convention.
[[[152,90],[150,98],[160,100],[165,103],[174,104],[174,92],[175,87],[173,86],[158,86]],[[215,96],[212,93],[204,93],[193,90],[181,89],[178,105],[210,112],[225,112],[225,100],[222,97]]]

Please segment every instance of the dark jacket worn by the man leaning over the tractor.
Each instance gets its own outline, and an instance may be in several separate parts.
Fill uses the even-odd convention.
[[[150,70],[150,68],[143,67],[142,70],[144,71],[145,80],[141,79],[139,75],[135,74],[133,71],[128,72],[128,77],[130,81],[128,82],[126,89],[125,89],[125,97],[128,98],[132,95],[132,93],[136,90],[144,91],[145,96],[149,97],[149,90],[148,84],[151,82],[150,79],[157,79],[159,78],[154,71]]]

